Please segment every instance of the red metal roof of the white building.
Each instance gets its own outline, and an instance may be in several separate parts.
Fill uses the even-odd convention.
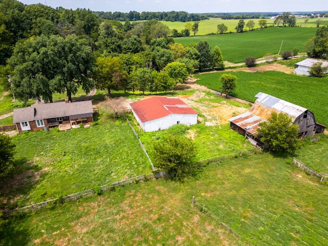
[[[141,122],[159,119],[170,114],[198,114],[177,97],[154,96],[130,105]]]

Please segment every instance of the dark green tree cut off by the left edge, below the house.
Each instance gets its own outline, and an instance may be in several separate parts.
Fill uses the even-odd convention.
[[[11,138],[0,133],[0,178],[7,177],[14,169],[15,145]]]

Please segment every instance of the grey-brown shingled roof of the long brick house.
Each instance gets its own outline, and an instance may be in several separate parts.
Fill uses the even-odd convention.
[[[90,117],[93,114],[92,101],[65,103],[59,101],[50,104],[36,104],[27,108],[14,109],[13,122],[32,121],[69,116],[70,119]]]

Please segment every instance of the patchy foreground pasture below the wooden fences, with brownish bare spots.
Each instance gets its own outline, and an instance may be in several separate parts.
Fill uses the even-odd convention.
[[[286,162],[260,153],[226,159],[183,184],[158,179],[38,210],[12,219],[1,242],[325,245],[328,186]]]

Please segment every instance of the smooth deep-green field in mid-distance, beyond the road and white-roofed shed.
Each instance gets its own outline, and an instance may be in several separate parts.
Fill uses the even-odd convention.
[[[294,48],[304,52],[304,44],[308,39],[315,37],[316,30],[316,28],[270,27],[252,32],[178,37],[174,40],[175,43],[183,46],[206,40],[212,49],[215,46],[220,48],[224,60],[240,63],[249,56],[260,58],[268,53],[278,54],[281,42],[281,52],[292,51]]]

